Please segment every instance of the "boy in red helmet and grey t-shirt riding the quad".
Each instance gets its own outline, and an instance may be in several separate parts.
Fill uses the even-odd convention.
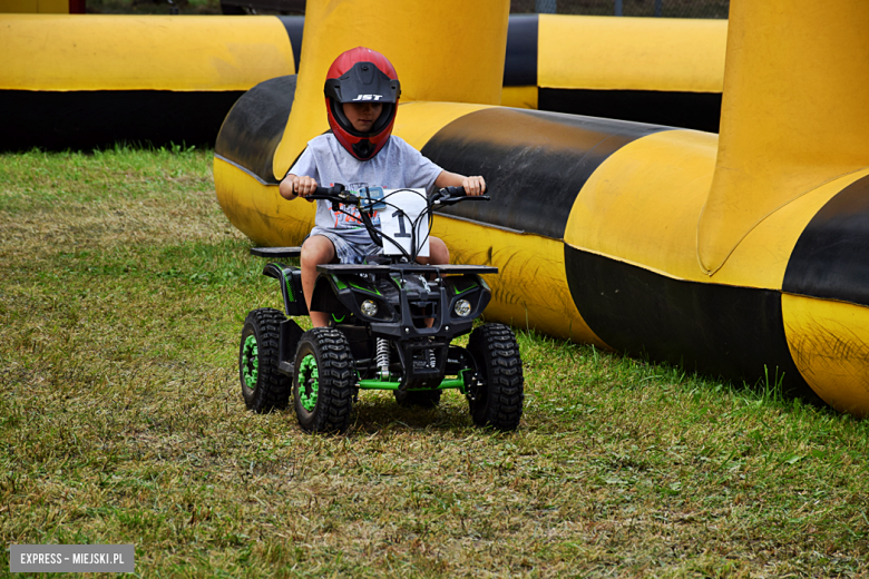
[[[462,186],[468,195],[485,193],[482,177],[443,170],[401,138],[391,137],[401,88],[396,69],[380,52],[363,47],[343,52],[329,69],[324,92],[332,134],[309,141],[281,181],[280,192],[285,199],[307,197],[318,184],[329,187],[335,183],[351,190],[424,187],[431,194],[436,188]],[[315,225],[302,245],[301,257],[302,290],[309,311],[318,265],[362,263],[380,252],[355,219],[332,212],[330,202],[320,199],[316,204]],[[380,226],[378,217],[372,220]],[[447,246],[437,237],[429,239],[429,257],[419,258],[420,263],[432,265],[449,261]],[[314,327],[328,325],[328,314],[310,313]]]

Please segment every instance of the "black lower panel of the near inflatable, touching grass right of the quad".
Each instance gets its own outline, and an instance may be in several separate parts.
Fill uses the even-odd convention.
[[[778,369],[790,394],[819,401],[788,349],[780,292],[673,279],[568,245],[565,268],[583,320],[612,347],[749,383]]]

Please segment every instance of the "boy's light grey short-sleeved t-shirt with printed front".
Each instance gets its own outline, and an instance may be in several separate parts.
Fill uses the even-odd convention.
[[[311,139],[307,148],[287,173],[313,177],[321,187],[331,187],[335,183],[342,184],[349,190],[360,190],[363,187],[424,187],[430,195],[441,170],[443,169],[400,137],[390,137],[372,159],[359,160],[341,146],[334,135],[326,134]],[[359,215],[355,207],[343,208],[348,213]],[[371,220],[380,228],[380,216],[373,215]],[[316,235],[318,229],[325,229],[353,244],[371,243],[371,237],[359,218],[333,212],[331,202],[316,200],[314,223],[311,235]]]

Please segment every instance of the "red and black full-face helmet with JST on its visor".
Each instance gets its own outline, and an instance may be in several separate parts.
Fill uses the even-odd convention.
[[[398,72],[387,57],[364,47],[343,52],[329,68],[323,92],[338,141],[360,160],[377,155],[392,134],[401,96]],[[359,133],[344,116],[344,102],[380,102],[383,110],[369,133]]]

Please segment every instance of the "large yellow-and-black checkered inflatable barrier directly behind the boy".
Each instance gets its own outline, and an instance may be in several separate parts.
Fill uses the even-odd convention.
[[[719,137],[497,107],[500,78],[487,73],[506,2],[420,0],[412,20],[382,3],[401,32],[372,48],[394,58],[411,101],[394,134],[490,185],[494,203],[459,206],[433,230],[457,261],[499,267],[489,317],[869,414],[869,4],[733,0]],[[257,244],[310,229],[312,207],[274,184],[326,130],[321,71],[351,48],[313,31],[354,38],[349,16],[364,4],[311,1],[300,76],[255,88],[226,119],[217,197]],[[448,18],[460,40],[447,51],[412,27]],[[271,89],[293,95],[275,105],[282,128],[257,121]]]

